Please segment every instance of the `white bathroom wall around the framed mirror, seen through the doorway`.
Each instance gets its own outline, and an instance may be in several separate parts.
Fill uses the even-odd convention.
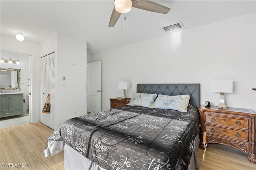
[[[26,103],[23,103],[23,113],[28,113],[28,103],[29,103],[29,79],[30,79],[30,68],[29,68],[29,55],[9,53],[1,51],[1,57],[4,59],[19,59],[20,64],[9,64],[1,63],[2,68],[15,68],[20,69],[20,92],[23,92],[23,96],[26,99]],[[16,92],[16,90],[12,90]]]

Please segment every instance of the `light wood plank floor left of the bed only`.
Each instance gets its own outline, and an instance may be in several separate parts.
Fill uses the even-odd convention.
[[[46,140],[53,130],[42,123],[1,129],[1,170],[62,170],[64,151],[45,158]],[[2,167],[2,163],[23,164],[24,168]]]

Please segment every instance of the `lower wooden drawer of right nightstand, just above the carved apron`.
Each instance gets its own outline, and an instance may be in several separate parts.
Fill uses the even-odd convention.
[[[206,125],[205,131],[206,133],[211,133],[214,135],[222,135],[225,137],[231,137],[233,139],[248,141],[248,132],[238,131],[236,129],[228,129],[228,128]]]

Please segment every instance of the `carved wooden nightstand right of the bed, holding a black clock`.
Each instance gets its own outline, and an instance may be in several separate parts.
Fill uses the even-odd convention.
[[[248,160],[256,163],[256,113],[251,109],[228,107],[218,109],[201,105],[200,144],[205,149],[208,143],[230,145],[245,153]]]

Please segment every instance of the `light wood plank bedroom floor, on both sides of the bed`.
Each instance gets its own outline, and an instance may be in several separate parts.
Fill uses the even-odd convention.
[[[1,170],[64,170],[64,152],[45,158],[46,140],[53,130],[42,123],[29,123],[1,129]],[[198,150],[200,170],[256,170],[256,164],[247,160],[247,154],[232,147],[209,144]],[[2,163],[20,163],[25,168],[2,167]]]

